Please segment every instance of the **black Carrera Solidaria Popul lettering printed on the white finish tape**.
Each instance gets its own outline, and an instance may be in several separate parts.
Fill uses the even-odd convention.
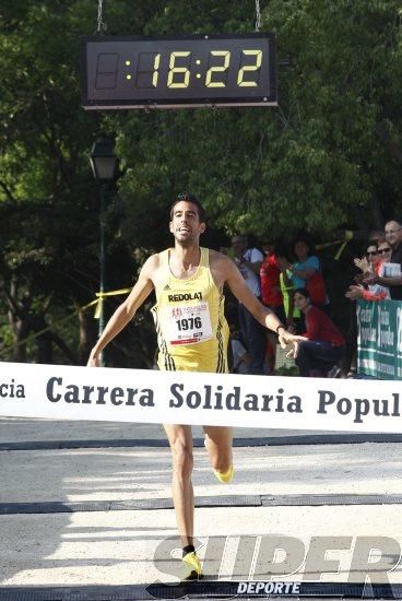
[[[275,413],[303,413],[303,399],[297,394],[286,393],[284,388],[277,388],[273,393],[248,392],[246,386],[223,387],[221,385],[204,385],[198,390],[191,390],[184,384],[172,384],[169,389],[169,409],[202,409],[211,411],[258,411]],[[381,398],[347,398],[336,397],[331,390],[317,390],[317,413],[338,412],[340,415],[353,417],[353,422],[363,423],[366,415],[400,417],[402,399],[399,392],[392,392],[387,399]],[[107,386],[87,386],[69,384],[62,377],[51,377],[46,384],[47,400],[52,403],[82,403],[106,405],[139,405],[155,406],[154,391],[151,388],[122,388]],[[0,381],[1,399],[25,399],[25,387],[12,379]],[[307,401],[306,401],[307,402]],[[312,402],[312,399],[308,399]]]

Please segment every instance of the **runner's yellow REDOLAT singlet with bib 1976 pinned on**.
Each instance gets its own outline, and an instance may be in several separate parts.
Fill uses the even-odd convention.
[[[210,251],[201,248],[200,264],[188,280],[175,278],[170,249],[159,254],[161,278],[152,308],[159,354],[159,369],[226,374],[229,329],[225,297],[213,281]]]

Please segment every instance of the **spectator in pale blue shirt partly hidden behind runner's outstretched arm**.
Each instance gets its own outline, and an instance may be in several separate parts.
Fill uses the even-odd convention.
[[[247,236],[243,235],[233,236],[232,246],[235,263],[239,268],[247,287],[258,299],[261,299],[259,272],[263,261],[262,252],[258,248],[248,248]],[[250,355],[248,373],[264,374],[265,328],[255,319],[244,305],[239,304],[238,313],[241,334]]]

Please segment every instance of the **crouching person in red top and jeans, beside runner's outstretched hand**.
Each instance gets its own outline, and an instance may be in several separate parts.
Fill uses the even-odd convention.
[[[303,377],[323,377],[345,354],[345,339],[321,309],[311,305],[307,288],[293,293],[295,307],[305,314],[305,340],[299,343],[296,365]]]

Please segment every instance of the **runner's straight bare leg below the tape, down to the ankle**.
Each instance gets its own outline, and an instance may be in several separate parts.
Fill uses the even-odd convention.
[[[191,426],[164,424],[173,456],[173,503],[182,546],[193,544],[194,494]]]

